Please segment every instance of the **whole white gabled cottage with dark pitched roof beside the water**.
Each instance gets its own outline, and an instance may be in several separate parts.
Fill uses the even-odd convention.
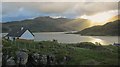
[[[21,27],[18,30],[10,31],[5,38],[12,41],[16,39],[34,40],[34,34],[28,28]]]

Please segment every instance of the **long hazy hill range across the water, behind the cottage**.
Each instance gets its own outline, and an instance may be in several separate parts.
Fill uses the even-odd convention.
[[[37,17],[22,21],[2,23],[2,32],[9,32],[22,26],[28,27],[32,32],[61,32],[79,31],[89,27],[86,19],[51,18],[49,16]]]

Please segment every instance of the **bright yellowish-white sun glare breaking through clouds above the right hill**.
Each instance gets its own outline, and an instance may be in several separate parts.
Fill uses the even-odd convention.
[[[116,16],[116,15],[117,15],[117,11],[112,10],[112,11],[97,13],[92,16],[83,15],[80,18],[90,20],[93,25],[94,24],[103,25],[103,24],[107,23],[111,17]]]

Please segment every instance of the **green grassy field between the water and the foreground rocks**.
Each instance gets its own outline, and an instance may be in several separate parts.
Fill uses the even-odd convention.
[[[77,44],[64,44],[54,41],[8,41],[3,40],[3,54],[15,56],[20,49],[27,50],[27,53],[37,52],[45,55],[55,55],[59,61],[64,56],[70,59],[67,65],[118,65],[119,46],[93,44],[81,42]]]

